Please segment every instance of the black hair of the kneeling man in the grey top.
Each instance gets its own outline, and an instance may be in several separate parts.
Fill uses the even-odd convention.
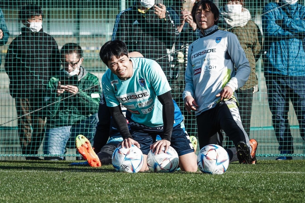
[[[211,2],[210,0],[201,0],[198,1],[194,4],[193,8],[192,8],[192,17],[194,19],[194,22],[196,22],[196,11],[200,8],[200,6],[202,6],[202,9],[204,11],[210,11],[214,14],[214,20],[215,20],[215,25],[218,25],[218,20],[219,20],[219,10],[217,8],[217,6]],[[197,23],[196,23],[197,25]],[[197,25],[198,28],[198,25]]]

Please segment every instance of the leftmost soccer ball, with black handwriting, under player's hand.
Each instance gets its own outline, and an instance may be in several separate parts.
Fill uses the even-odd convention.
[[[137,173],[143,166],[144,157],[141,149],[135,145],[131,145],[128,149],[119,146],[114,150],[111,161],[116,171]]]

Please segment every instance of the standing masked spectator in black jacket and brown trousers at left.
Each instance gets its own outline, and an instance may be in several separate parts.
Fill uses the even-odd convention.
[[[7,50],[5,71],[15,98],[22,154],[37,154],[45,133],[44,98],[48,80],[60,69],[56,41],[42,30],[41,7],[29,4],[19,12],[25,27]],[[26,157],[39,160],[38,157]]]

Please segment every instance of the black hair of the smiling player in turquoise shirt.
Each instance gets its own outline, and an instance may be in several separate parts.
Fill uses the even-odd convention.
[[[99,57],[107,66],[108,62],[112,61],[114,57],[120,58],[124,55],[128,56],[128,50],[125,42],[121,40],[110,40],[106,42],[99,52]]]

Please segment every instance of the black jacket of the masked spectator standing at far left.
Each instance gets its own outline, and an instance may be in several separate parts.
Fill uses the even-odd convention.
[[[9,90],[13,98],[45,93],[48,80],[60,69],[56,41],[41,29],[37,33],[27,27],[9,45],[5,71],[9,75]]]

